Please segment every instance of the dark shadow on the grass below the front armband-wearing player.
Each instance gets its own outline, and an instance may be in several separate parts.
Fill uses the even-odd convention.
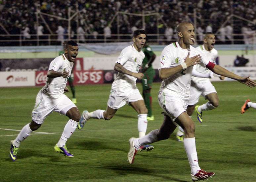
[[[138,174],[138,175],[151,175],[151,176],[163,178],[165,180],[172,180],[172,181],[178,181],[178,182],[190,182],[190,181],[184,181],[184,180],[168,177],[165,174],[171,175],[171,171],[164,170],[164,169],[161,169],[161,172],[159,172],[159,170],[155,171],[155,169],[152,169],[152,168],[149,169],[147,167],[135,167],[134,165],[123,166],[123,165],[117,165],[117,164],[96,166],[96,168],[111,169],[121,176],[132,173],[132,174]]]

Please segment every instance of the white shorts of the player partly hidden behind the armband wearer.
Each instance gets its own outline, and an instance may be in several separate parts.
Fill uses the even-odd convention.
[[[217,93],[217,91],[210,81],[197,83],[191,80],[189,106],[198,103],[200,96],[205,98],[211,93]]]

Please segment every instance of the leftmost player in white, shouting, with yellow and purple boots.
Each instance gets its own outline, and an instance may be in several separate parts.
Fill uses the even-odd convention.
[[[46,84],[36,96],[35,107],[32,111],[32,121],[25,125],[19,135],[11,141],[10,158],[13,161],[16,160],[21,141],[26,139],[30,133],[37,130],[52,111],[69,117],[62,136],[54,146],[54,149],[56,152],[62,153],[65,156],[74,157],[67,150],[65,143],[75,131],[80,119],[80,113],[74,103],[64,95],[64,92],[68,92],[66,83],[71,75],[73,62],[77,54],[77,44],[74,41],[68,41],[64,47],[64,54],[56,57],[50,63]]]

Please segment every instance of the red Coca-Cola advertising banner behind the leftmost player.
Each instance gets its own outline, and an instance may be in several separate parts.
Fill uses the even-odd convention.
[[[47,81],[47,71],[36,71],[35,85],[44,86]],[[102,70],[74,71],[74,85],[102,84],[104,72]]]

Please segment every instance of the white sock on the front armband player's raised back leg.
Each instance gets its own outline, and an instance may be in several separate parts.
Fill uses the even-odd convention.
[[[136,138],[134,140],[134,147],[136,149],[138,149],[142,145],[147,145],[147,144],[154,143],[154,142],[158,141],[157,131],[158,131],[158,129],[152,130],[151,132],[148,133],[148,135],[141,137],[141,138]]]

